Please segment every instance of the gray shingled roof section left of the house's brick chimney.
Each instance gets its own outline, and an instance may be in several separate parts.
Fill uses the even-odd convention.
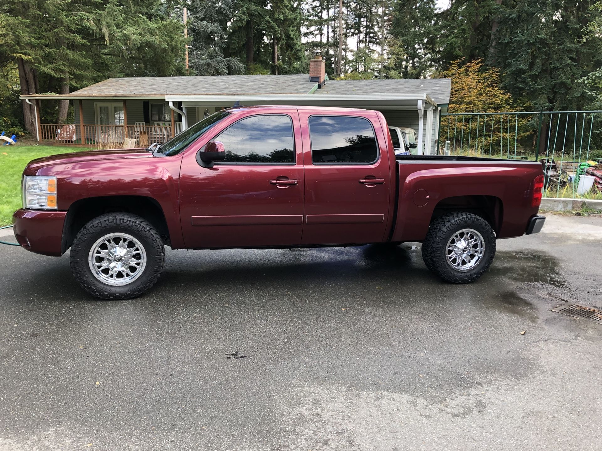
[[[314,85],[305,74],[109,78],[74,91],[72,95],[150,97],[166,94],[307,94]]]

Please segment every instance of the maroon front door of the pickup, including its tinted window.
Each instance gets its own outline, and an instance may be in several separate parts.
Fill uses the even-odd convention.
[[[180,214],[186,246],[300,244],[304,181],[299,116],[253,115],[250,110],[212,140],[224,144],[224,162],[201,167],[195,158],[199,149],[187,152],[182,161]]]

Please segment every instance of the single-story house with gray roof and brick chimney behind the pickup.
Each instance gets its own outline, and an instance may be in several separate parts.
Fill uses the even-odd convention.
[[[130,147],[163,143],[203,117],[241,105],[347,106],[381,111],[389,125],[418,132],[418,149],[436,153],[450,79],[330,80],[324,61],[310,61],[309,76],[231,75],[110,78],[70,94],[30,94],[29,102],[69,99],[75,124],[41,124],[43,143]],[[421,142],[420,142],[421,141]]]

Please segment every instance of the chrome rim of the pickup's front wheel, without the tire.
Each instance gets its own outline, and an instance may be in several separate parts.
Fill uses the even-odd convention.
[[[88,264],[92,274],[102,283],[122,286],[132,283],[144,272],[146,251],[127,233],[102,236],[90,248]]]

